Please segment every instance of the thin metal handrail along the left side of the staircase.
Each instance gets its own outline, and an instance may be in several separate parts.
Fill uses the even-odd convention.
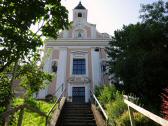
[[[47,126],[47,124],[48,124],[48,118],[49,118],[49,116],[51,115],[51,113],[52,113],[52,111],[54,110],[54,108],[56,107],[56,105],[58,104],[58,108],[59,108],[59,102],[60,102],[60,100],[61,100],[61,98],[62,98],[62,96],[63,96],[63,94],[64,94],[64,92],[65,92],[65,88],[63,89],[63,86],[64,86],[64,84],[62,84],[62,85],[60,85],[60,87],[62,87],[62,93],[60,94],[60,96],[58,97],[58,99],[56,100],[56,102],[54,103],[54,105],[52,106],[52,108],[50,109],[50,111],[48,112],[48,114],[47,114],[47,117],[46,117],[46,126]],[[58,88],[58,89],[61,89],[61,88]],[[57,91],[55,92],[55,94],[59,91],[57,89]]]

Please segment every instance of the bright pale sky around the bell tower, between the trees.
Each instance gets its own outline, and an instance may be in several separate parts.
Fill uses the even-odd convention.
[[[62,0],[62,4],[69,11],[72,20],[72,9],[80,0]],[[157,0],[81,0],[88,9],[88,22],[96,24],[99,32],[113,35],[116,29],[123,25],[136,23],[139,20],[141,4],[156,2]],[[166,0],[165,0],[166,1]]]

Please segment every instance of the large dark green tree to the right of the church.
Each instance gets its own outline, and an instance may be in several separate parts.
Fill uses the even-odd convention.
[[[168,2],[143,5],[141,13],[142,22],[114,32],[107,48],[109,73],[117,87],[123,81],[126,93],[159,110],[160,94],[168,83]]]

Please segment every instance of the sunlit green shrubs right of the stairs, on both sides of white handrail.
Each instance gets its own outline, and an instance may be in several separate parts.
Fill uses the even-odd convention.
[[[130,126],[130,118],[127,105],[123,100],[123,93],[116,90],[115,86],[105,85],[96,87],[96,96],[105,108],[109,117],[109,126]],[[139,98],[130,94],[129,100],[137,105],[141,105]],[[141,113],[133,112],[136,126],[159,126]]]

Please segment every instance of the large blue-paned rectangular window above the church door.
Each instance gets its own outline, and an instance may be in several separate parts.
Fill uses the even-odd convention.
[[[74,75],[84,75],[86,74],[86,61],[85,59],[73,59],[73,70]]]

